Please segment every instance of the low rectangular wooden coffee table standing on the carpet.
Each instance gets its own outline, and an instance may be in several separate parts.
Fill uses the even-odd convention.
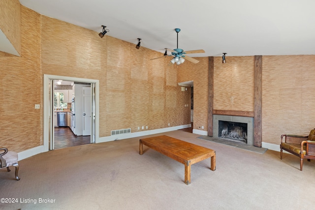
[[[184,142],[169,136],[155,136],[139,140],[139,154],[143,154],[143,145],[177,160],[185,165],[185,183],[190,184],[190,166],[211,157],[212,171],[216,170],[216,151]]]

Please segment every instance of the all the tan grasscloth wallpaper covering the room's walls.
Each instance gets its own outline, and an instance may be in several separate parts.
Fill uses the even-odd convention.
[[[7,15],[1,16],[0,29],[13,24],[23,32],[21,40],[8,34],[21,57],[0,52],[0,147],[20,152],[43,144],[44,74],[99,80],[100,137],[115,129],[138,132],[142,126],[150,130],[189,124],[190,89],[181,91],[177,83],[193,80],[193,128],[206,131],[209,58],[179,66],[169,65],[169,58],[150,60],[161,53],[137,50],[135,43],[110,34],[99,38],[95,31],[21,5],[19,13],[17,0],[3,2],[0,14]],[[283,133],[307,135],[315,127],[315,56],[262,60],[262,141],[279,145]],[[253,56],[226,61],[214,58],[214,109],[253,111]]]

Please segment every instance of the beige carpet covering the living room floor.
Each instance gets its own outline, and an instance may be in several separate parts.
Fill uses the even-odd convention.
[[[0,197],[18,199],[0,209],[314,209],[314,160],[300,171],[291,154],[281,160],[272,150],[260,154],[183,131],[162,134],[216,150],[216,171],[210,158],[193,164],[186,185],[183,164],[145,146],[139,155],[139,137],[53,150],[21,160],[19,181],[14,170],[0,170]]]

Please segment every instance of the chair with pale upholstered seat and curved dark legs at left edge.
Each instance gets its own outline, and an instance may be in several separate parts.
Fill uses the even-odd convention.
[[[8,172],[11,170],[9,166],[15,167],[15,179],[20,180],[18,177],[19,172],[19,164],[18,164],[18,153],[14,151],[8,151],[6,148],[0,148],[0,150],[4,150],[4,152],[0,153],[0,169],[5,168]]]

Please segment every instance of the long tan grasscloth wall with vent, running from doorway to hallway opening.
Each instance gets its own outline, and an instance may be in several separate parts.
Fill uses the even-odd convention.
[[[45,16],[41,27],[43,74],[100,81],[100,137],[116,129],[189,124],[189,116],[182,117],[189,94],[177,87],[177,68],[150,60],[160,53]]]

